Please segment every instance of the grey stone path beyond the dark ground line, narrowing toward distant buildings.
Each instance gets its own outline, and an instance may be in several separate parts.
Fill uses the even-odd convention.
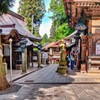
[[[58,65],[51,64],[48,67],[42,68],[22,79],[16,83],[99,83],[100,74],[89,74],[69,71],[67,75],[60,75],[56,73]]]

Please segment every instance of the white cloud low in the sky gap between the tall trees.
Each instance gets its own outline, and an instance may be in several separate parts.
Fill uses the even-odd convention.
[[[52,20],[50,20],[47,23],[42,23],[39,29],[40,35],[43,36],[46,33],[48,36],[50,36],[51,25],[52,25]]]

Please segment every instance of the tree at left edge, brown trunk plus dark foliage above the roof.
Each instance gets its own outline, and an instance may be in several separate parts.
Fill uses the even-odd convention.
[[[0,15],[3,13],[7,13],[9,8],[13,6],[15,0],[0,0]],[[2,44],[1,44],[1,36],[0,36],[0,90],[5,90],[10,87],[6,79],[6,74],[4,71],[4,64],[2,61]]]

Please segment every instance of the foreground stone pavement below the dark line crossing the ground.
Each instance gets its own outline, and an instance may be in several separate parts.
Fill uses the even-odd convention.
[[[100,84],[29,84],[0,100],[100,100]]]

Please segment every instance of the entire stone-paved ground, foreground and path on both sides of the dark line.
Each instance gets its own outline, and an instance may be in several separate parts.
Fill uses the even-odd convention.
[[[15,81],[21,89],[0,95],[0,100],[100,100],[99,74],[70,71],[59,75],[57,66],[49,65]]]

